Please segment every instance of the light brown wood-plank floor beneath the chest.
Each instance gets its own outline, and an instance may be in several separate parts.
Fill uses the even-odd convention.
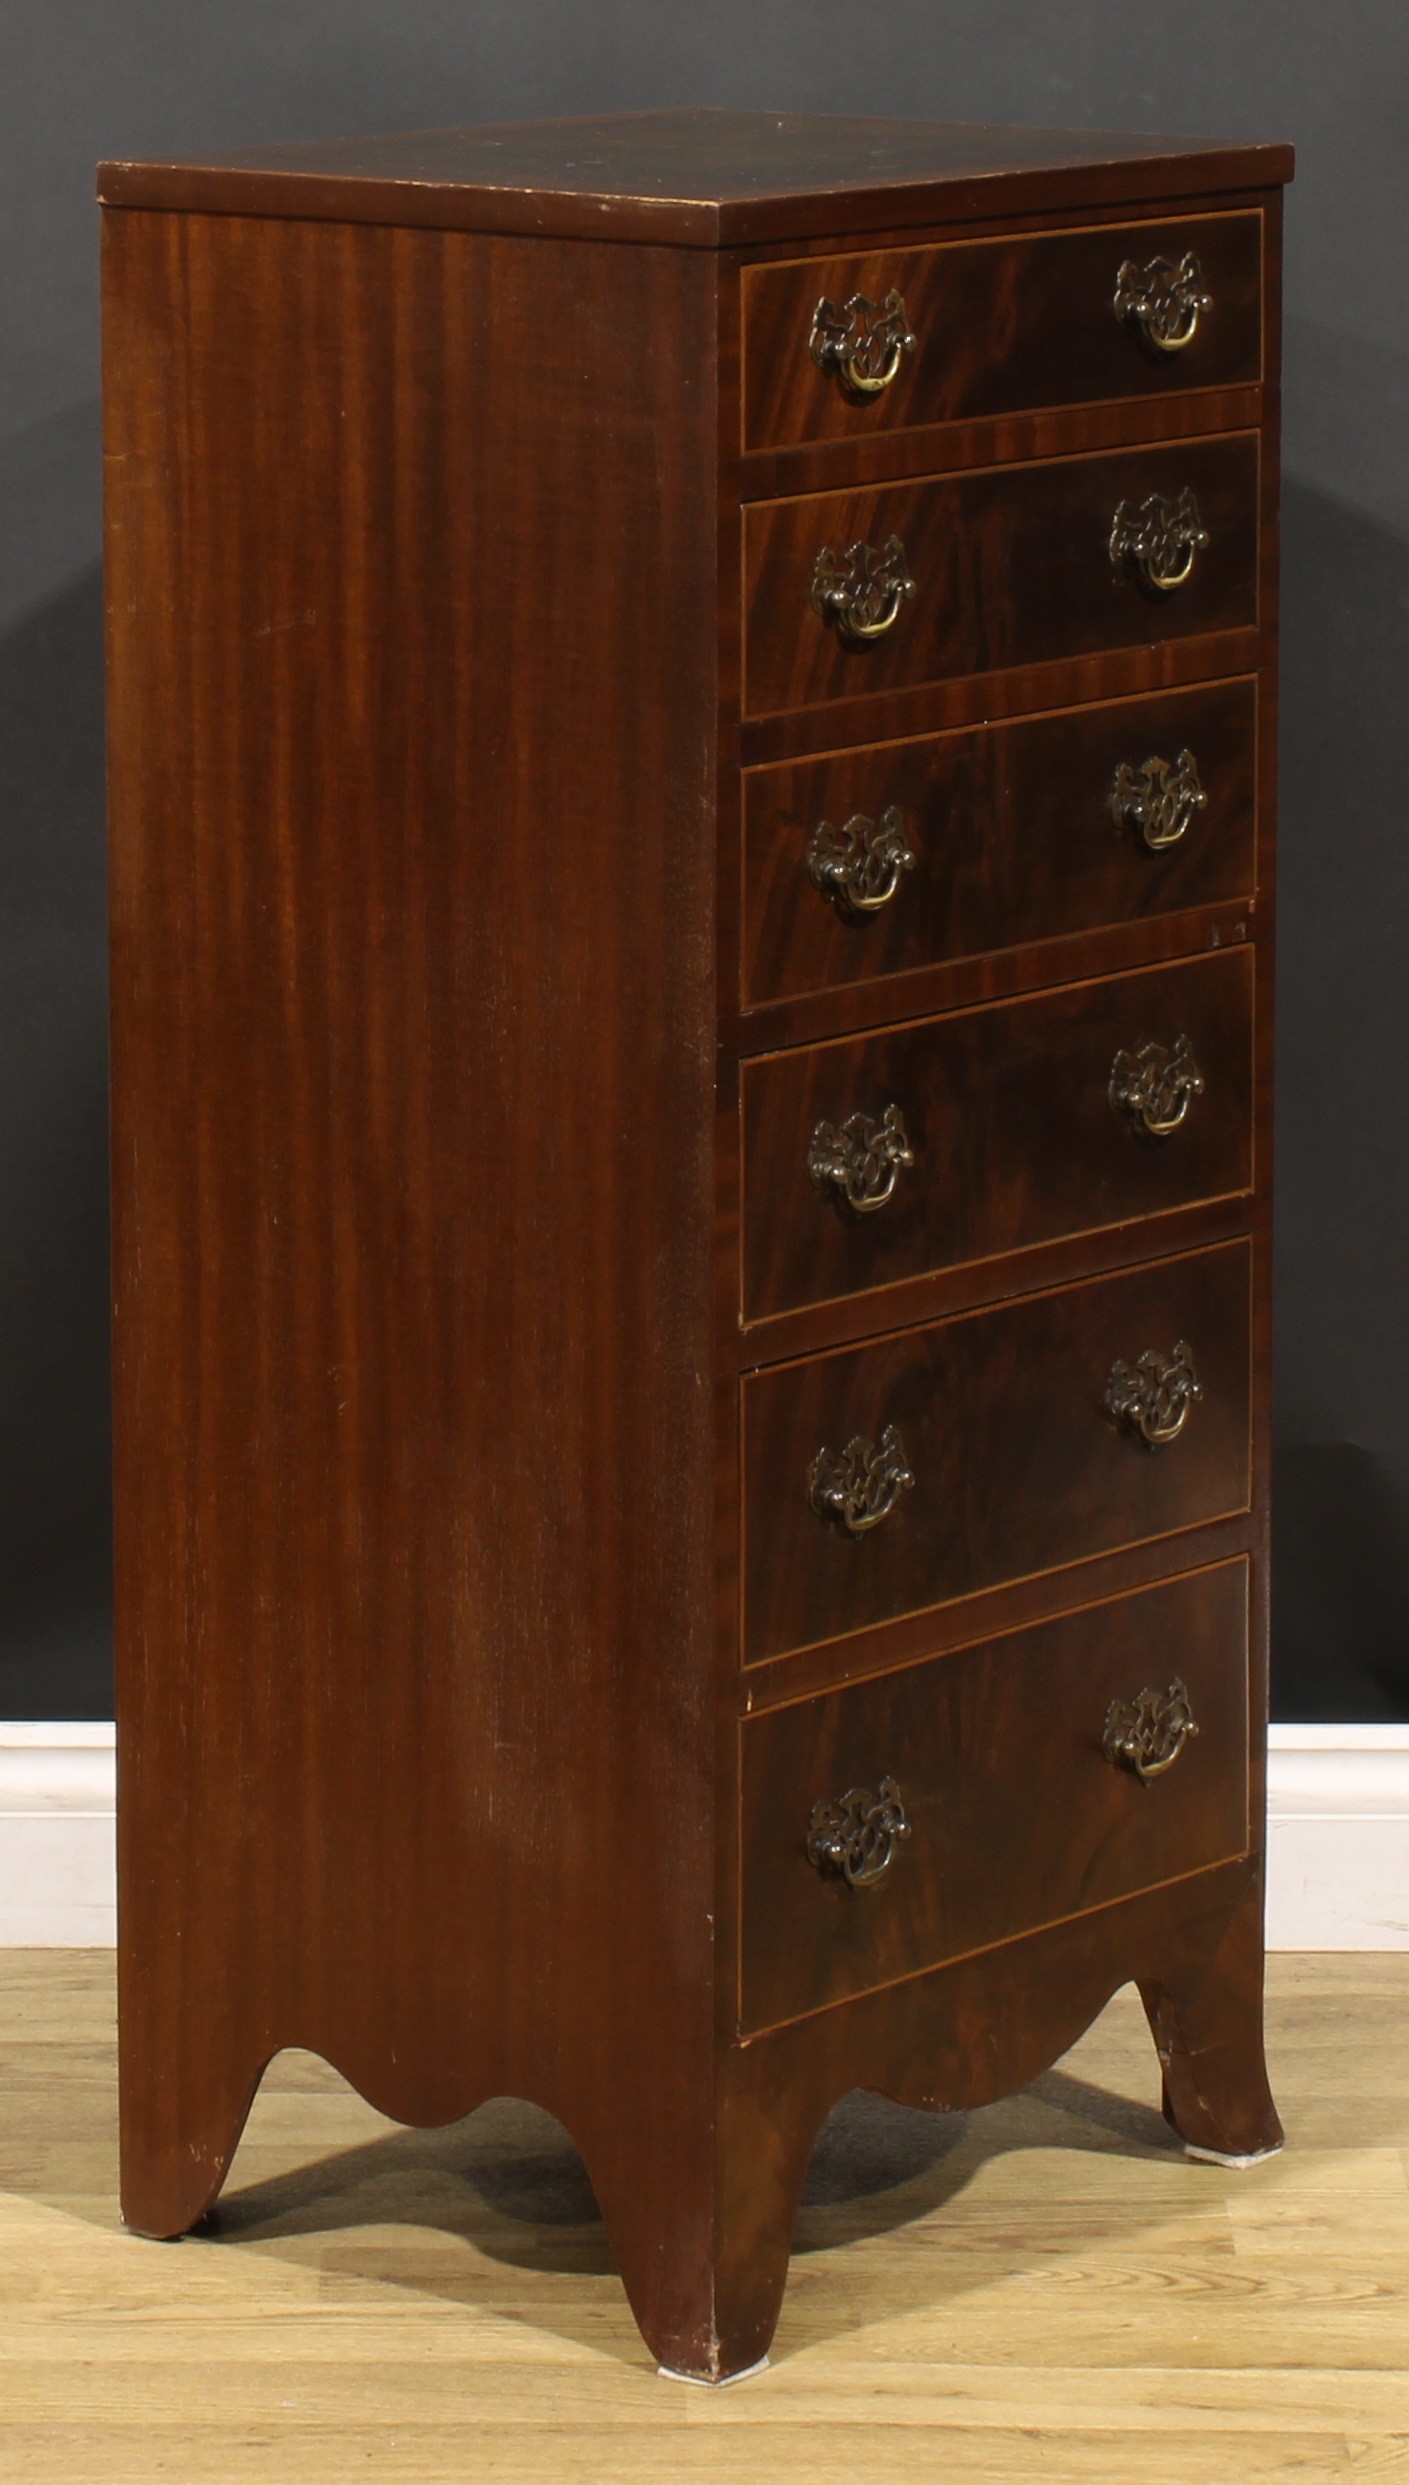
[[[1188,2164],[1118,1995],[1009,2105],[828,2125],[773,2368],[659,2381],[559,2127],[276,2063],[211,2239],[114,2207],[107,1953],[0,1951],[0,2478],[1409,2478],[1409,1956],[1275,1958],[1282,2157]]]

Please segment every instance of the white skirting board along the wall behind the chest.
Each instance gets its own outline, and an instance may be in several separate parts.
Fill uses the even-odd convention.
[[[109,1725],[0,1725],[0,1943],[114,1938]],[[1267,1946],[1409,1951],[1409,1725],[1275,1725]]]

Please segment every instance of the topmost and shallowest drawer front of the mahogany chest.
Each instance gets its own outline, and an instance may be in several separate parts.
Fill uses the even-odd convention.
[[[1260,286],[1257,209],[746,268],[743,445],[1257,383]]]

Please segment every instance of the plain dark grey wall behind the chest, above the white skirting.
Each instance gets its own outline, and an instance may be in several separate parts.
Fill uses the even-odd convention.
[[[1277,1710],[1409,1715],[1404,0],[5,0],[0,1715],[104,1715],[104,154],[631,104],[1300,149],[1287,234]]]

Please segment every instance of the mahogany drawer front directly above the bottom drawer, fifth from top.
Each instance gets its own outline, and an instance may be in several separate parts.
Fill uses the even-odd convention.
[[[1247,1409],[1247,1242],[750,1374],[746,1662],[1245,1511]]]

